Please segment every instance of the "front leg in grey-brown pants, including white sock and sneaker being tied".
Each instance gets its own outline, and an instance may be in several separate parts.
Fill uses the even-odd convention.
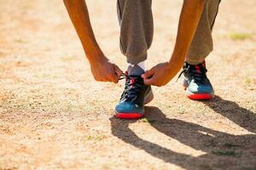
[[[115,116],[125,119],[140,118],[144,105],[153,99],[150,86],[145,86],[141,75],[144,61],[153,39],[151,0],[118,0],[120,49],[126,56],[128,71],[125,91],[115,108]]]

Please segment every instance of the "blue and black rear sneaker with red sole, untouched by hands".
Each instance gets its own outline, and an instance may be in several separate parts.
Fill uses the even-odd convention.
[[[207,78],[205,61],[199,65],[189,65],[185,62],[182,73],[183,86],[189,99],[212,99],[214,97],[212,84]]]

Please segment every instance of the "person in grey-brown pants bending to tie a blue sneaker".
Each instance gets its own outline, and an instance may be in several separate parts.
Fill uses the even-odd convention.
[[[96,81],[118,82],[122,71],[102,53],[90,26],[84,0],[64,0],[78,32]],[[145,70],[144,61],[153,39],[152,0],[118,0],[120,48],[126,56],[125,91],[115,108],[115,116],[137,119],[144,105],[153,99],[150,85],[164,86],[183,66],[183,86],[189,99],[212,99],[205,58],[212,51],[212,26],[220,0],[183,0],[177,40],[171,59]]]

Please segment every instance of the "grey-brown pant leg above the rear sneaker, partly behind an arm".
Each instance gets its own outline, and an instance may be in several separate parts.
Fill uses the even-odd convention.
[[[219,3],[220,0],[206,0],[201,20],[187,54],[186,61],[190,65],[200,64],[212,52],[212,27],[218,14]]]

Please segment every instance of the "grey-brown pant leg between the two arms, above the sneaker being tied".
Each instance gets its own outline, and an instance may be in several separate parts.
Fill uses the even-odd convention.
[[[147,59],[153,40],[152,0],[118,0],[120,49],[132,65]]]

